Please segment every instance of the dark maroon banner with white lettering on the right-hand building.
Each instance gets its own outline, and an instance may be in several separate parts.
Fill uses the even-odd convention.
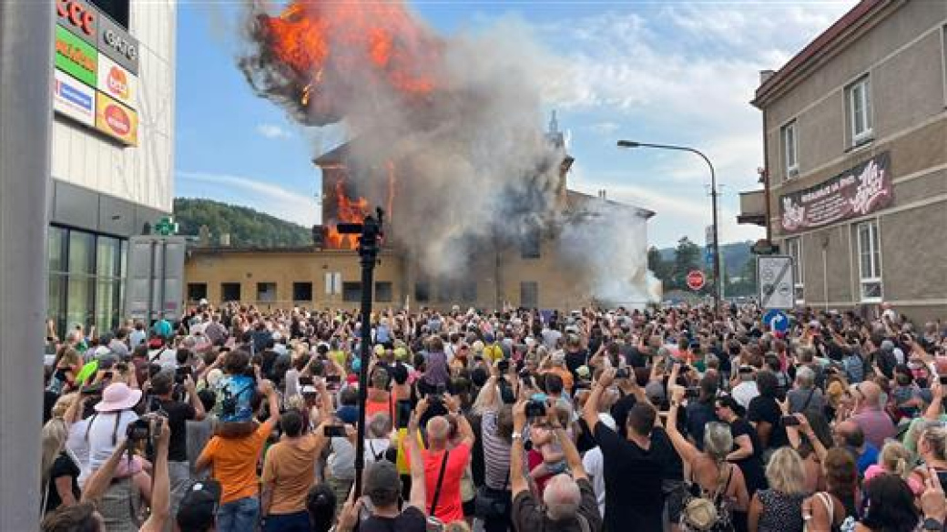
[[[828,181],[779,197],[783,233],[864,216],[894,200],[887,151]]]

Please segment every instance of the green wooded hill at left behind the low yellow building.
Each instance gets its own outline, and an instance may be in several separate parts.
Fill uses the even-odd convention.
[[[174,198],[174,221],[178,223],[178,234],[183,236],[196,237],[201,225],[206,225],[212,244],[220,243],[224,233],[230,235],[230,245],[234,247],[289,247],[313,242],[309,227],[249,207],[212,200]]]

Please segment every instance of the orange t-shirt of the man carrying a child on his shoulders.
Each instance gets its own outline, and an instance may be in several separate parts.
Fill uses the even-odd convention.
[[[222,505],[259,494],[257,460],[272,430],[272,425],[263,423],[246,437],[214,436],[207,442],[201,457],[210,461],[214,480],[221,483]]]

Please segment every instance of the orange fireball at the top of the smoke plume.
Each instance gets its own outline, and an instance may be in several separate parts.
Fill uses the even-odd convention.
[[[407,103],[435,88],[440,44],[399,1],[293,0],[257,20],[263,51],[317,123],[343,115],[353,88],[387,88]]]

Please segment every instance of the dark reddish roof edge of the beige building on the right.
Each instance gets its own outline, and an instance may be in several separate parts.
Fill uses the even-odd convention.
[[[832,48],[840,44],[842,39],[858,28],[864,26],[871,18],[871,15],[882,8],[894,4],[897,0],[862,0],[849,12],[842,15],[842,18],[835,21],[828,29],[816,37],[812,43],[806,45],[802,50],[795,54],[793,59],[789,60],[768,80],[763,81],[757,88],[756,97],[753,98],[753,105],[762,107],[763,100],[772,95],[777,87],[786,84],[795,75],[813,65],[823,56],[831,52]]]

